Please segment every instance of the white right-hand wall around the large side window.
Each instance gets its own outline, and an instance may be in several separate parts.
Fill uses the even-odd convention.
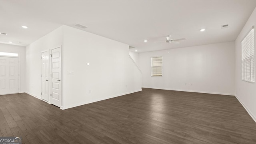
[[[256,122],[256,84],[244,82],[241,80],[241,41],[252,26],[256,26],[256,9],[252,12],[250,18],[244,25],[244,28],[236,38],[236,96],[244,105],[247,112]],[[256,36],[254,30],[254,45],[256,46]],[[256,50],[254,50],[256,52]]]

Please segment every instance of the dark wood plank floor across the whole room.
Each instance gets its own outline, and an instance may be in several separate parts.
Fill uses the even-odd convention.
[[[0,96],[0,136],[24,144],[256,144],[234,96],[143,88],[60,110],[28,94]]]

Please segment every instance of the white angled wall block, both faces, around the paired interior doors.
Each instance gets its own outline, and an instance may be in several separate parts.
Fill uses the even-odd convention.
[[[41,52],[60,45],[62,109],[141,90],[141,73],[129,57],[127,44],[61,26],[26,47],[28,94],[41,99]]]

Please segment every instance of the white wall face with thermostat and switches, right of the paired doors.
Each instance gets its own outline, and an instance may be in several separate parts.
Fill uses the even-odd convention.
[[[127,44],[64,26],[63,52],[63,109],[141,90]]]

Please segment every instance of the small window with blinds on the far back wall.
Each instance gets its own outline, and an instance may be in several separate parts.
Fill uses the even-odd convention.
[[[162,76],[163,57],[151,58],[151,76]]]

